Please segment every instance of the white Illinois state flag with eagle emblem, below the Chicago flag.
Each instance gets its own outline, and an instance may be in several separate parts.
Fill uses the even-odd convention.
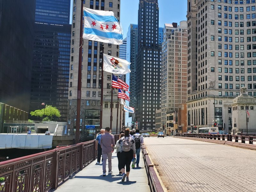
[[[103,53],[103,70],[115,74],[130,73],[129,63],[127,60],[112,57]]]

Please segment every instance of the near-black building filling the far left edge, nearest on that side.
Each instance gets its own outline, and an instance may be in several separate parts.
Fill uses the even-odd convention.
[[[0,132],[4,121],[28,120],[35,7],[0,1]]]

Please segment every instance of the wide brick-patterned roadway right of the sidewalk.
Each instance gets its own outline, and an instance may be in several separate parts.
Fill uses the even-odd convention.
[[[256,191],[255,150],[173,137],[144,143],[168,191]]]

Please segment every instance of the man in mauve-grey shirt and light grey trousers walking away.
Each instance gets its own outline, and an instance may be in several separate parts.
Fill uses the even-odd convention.
[[[109,134],[110,128],[105,128],[105,134],[101,136],[100,146],[102,148],[102,156],[103,156],[103,163],[102,163],[102,170],[103,176],[106,176],[106,164],[108,158],[108,174],[113,173],[112,171],[112,146],[115,146],[115,139],[114,136]]]

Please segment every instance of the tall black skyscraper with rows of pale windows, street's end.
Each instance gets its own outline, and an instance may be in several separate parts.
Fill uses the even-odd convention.
[[[140,0],[138,12],[138,54],[136,100],[138,128],[155,128],[155,111],[161,105],[161,60],[157,0]]]

